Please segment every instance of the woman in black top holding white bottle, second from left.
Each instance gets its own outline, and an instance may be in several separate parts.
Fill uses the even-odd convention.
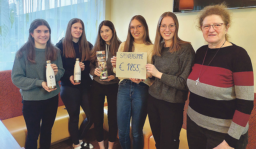
[[[66,35],[56,44],[61,50],[61,57],[65,73],[61,78],[61,99],[70,116],[69,132],[74,149],[81,149],[81,146],[93,148],[89,143],[83,143],[82,139],[93,122],[90,118],[88,101],[88,89],[91,85],[90,78],[90,49],[93,45],[86,40],[84,23],[78,18],[68,22]],[[81,82],[74,82],[74,65],[76,58],[80,59]],[[80,106],[84,110],[86,119],[79,128]]]

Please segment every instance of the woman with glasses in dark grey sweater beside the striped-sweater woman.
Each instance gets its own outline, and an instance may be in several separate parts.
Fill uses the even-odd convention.
[[[155,78],[149,87],[148,118],[157,149],[178,149],[183,108],[188,96],[187,77],[195,59],[190,42],[181,40],[179,23],[172,12],[157,24],[152,56],[146,68]]]

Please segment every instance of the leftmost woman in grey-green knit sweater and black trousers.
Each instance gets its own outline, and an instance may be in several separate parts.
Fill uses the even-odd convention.
[[[56,88],[46,82],[46,61],[51,60]],[[43,19],[34,20],[29,28],[29,39],[16,53],[12,68],[12,82],[22,96],[23,117],[28,135],[26,149],[50,149],[52,126],[58,108],[58,81],[64,74],[60,50],[51,43],[51,28]]]

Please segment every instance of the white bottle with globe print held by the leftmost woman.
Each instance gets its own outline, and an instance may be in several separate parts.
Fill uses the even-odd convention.
[[[47,80],[47,86],[49,89],[55,89],[56,88],[56,81],[55,81],[55,74],[52,69],[52,62],[50,60],[46,61],[47,67],[46,67],[46,80]]]

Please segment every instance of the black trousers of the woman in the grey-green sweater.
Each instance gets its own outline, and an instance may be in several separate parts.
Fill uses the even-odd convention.
[[[42,101],[22,101],[23,117],[26,122],[28,135],[26,149],[37,149],[40,133],[40,148],[50,149],[52,126],[58,109],[58,95]]]

